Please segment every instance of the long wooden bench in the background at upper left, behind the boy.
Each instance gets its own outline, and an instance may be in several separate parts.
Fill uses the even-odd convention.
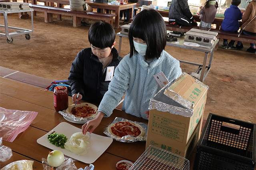
[[[58,8],[51,6],[42,6],[42,5],[34,5],[29,4],[30,8],[33,8],[34,11],[44,12],[44,22],[52,22],[53,17],[52,14],[60,14],[67,15],[73,17],[73,26],[78,27],[81,26],[81,19],[88,18],[94,20],[104,20],[111,25],[113,25],[114,14],[104,14],[98,12],[83,12],[83,11],[72,11],[66,8]]]

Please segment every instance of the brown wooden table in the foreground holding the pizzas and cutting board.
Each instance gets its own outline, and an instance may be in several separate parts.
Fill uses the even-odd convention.
[[[38,115],[30,126],[18,134],[14,142],[3,141],[4,146],[12,149],[13,156],[6,162],[1,162],[0,168],[17,160],[34,160],[33,169],[43,170],[42,158],[47,158],[51,149],[36,142],[38,138],[52,130],[60,122],[68,122],[53,106],[53,92],[10,80],[0,78],[0,106],[6,109],[27,110],[38,112]],[[72,99],[69,97],[69,104]],[[106,136],[103,132],[116,117],[127,118],[128,120],[144,122],[147,120],[126,114],[120,110],[114,110],[109,118],[103,118],[100,125],[94,130],[95,134]],[[70,122],[68,122],[70,123]],[[78,128],[82,124],[70,123]],[[116,162],[119,160],[130,160],[135,162],[144,152],[146,142],[123,143],[113,141],[108,149],[93,163],[95,170],[116,170]],[[77,168],[88,166],[80,161],[74,162]]]

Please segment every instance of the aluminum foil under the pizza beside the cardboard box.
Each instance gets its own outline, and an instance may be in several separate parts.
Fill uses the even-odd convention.
[[[145,135],[137,136],[137,137],[127,135],[127,136],[123,136],[122,138],[117,138],[116,136],[113,136],[112,134],[108,133],[108,128],[106,128],[106,130],[104,131],[104,134],[106,134],[108,137],[111,137],[114,140],[117,140],[119,142],[131,143],[131,142],[137,142],[137,141],[146,141],[147,134],[148,134],[148,125],[147,124],[142,123],[142,122],[134,122],[134,121],[131,121],[131,120],[128,120],[125,118],[118,118],[118,117],[115,118],[115,120],[112,122],[112,124],[115,124],[117,122],[122,122],[122,121],[133,122],[133,123],[139,124],[145,130]]]

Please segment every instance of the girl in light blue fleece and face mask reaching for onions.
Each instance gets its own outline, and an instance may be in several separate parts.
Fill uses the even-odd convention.
[[[129,29],[130,54],[116,67],[98,115],[82,126],[84,134],[92,133],[104,116],[112,114],[125,92],[122,110],[147,119],[150,98],[161,89],[153,76],[163,72],[171,81],[182,74],[180,62],[164,51],[166,39],[165,22],[156,10],[145,9],[134,17]]]

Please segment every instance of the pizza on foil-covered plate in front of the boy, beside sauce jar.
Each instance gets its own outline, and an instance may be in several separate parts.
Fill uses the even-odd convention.
[[[59,113],[69,122],[72,123],[85,123],[92,120],[98,114],[98,107],[91,103],[71,104],[64,111]]]

